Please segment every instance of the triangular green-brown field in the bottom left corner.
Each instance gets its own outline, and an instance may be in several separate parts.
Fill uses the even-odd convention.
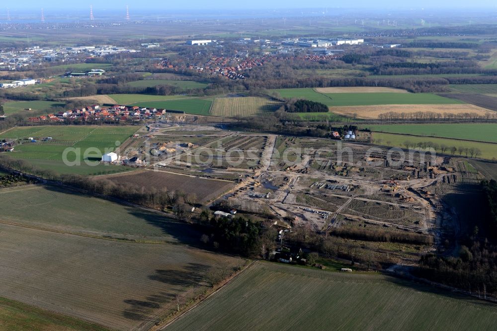
[[[6,298],[0,298],[0,326],[3,330],[108,330]]]

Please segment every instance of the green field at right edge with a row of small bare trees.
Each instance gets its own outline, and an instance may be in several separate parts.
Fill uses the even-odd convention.
[[[376,145],[384,145],[390,147],[401,147],[405,148],[405,142],[410,142],[411,144],[423,143],[423,142],[432,142],[436,143],[439,146],[445,145],[448,147],[456,147],[459,151],[461,148],[478,148],[481,151],[481,155],[479,158],[492,160],[497,156],[497,144],[492,143],[480,143],[480,142],[471,142],[465,140],[455,140],[455,139],[445,139],[445,138],[436,138],[436,137],[415,137],[409,135],[399,135],[392,133],[382,133],[375,132],[373,134],[373,142]],[[441,153],[440,149],[437,149],[438,153]],[[445,151],[446,154],[449,154],[449,150]],[[459,152],[456,152],[455,155],[459,155]],[[462,156],[466,156],[465,153]],[[468,154],[469,156],[469,154]]]

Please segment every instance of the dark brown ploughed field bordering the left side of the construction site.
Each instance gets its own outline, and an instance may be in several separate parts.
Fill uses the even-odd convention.
[[[211,201],[235,185],[226,180],[215,180],[181,175],[166,171],[144,170],[125,175],[112,175],[105,177],[116,183],[130,183],[133,185],[158,190],[166,188],[171,191],[195,194],[199,201]]]

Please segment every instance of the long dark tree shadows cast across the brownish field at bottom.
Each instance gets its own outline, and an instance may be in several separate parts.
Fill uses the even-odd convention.
[[[154,293],[145,300],[126,299],[124,303],[129,307],[125,309],[122,315],[130,320],[143,322],[158,322],[154,317],[158,309],[170,306],[171,310],[175,308],[176,296],[181,295],[187,288],[199,286],[209,286],[209,270],[211,267],[200,263],[187,263],[181,269],[165,270],[156,269],[154,274],[148,276],[149,279],[167,284],[169,292]],[[174,305],[171,305],[173,304]]]

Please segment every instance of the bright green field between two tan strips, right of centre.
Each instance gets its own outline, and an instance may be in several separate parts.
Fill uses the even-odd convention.
[[[459,100],[432,93],[318,93],[312,88],[275,89],[285,98],[303,98],[328,106],[367,106],[380,104],[457,104]]]

